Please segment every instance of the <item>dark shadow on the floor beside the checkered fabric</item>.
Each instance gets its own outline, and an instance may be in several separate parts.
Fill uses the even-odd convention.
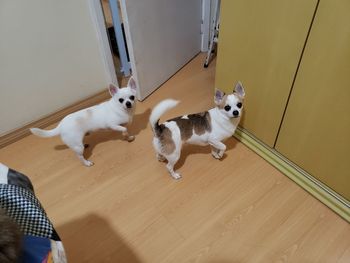
[[[90,214],[57,227],[68,262],[141,263],[104,218]]]

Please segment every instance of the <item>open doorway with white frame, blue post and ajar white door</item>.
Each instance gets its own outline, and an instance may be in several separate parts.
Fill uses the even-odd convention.
[[[201,51],[202,1],[89,0],[108,79],[119,84],[118,74],[122,83],[123,75],[129,76],[132,68],[137,99],[148,97]],[[119,53],[116,66],[111,54],[112,39],[107,36],[111,24]]]

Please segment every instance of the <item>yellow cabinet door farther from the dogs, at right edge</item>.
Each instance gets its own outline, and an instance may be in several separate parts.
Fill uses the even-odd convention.
[[[350,1],[320,1],[276,149],[350,200]]]

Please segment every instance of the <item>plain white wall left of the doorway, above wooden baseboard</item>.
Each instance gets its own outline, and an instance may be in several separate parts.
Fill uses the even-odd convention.
[[[0,0],[0,135],[107,87],[87,0]]]

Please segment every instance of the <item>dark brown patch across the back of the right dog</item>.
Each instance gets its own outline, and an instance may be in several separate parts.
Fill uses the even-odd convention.
[[[181,132],[181,139],[183,141],[188,140],[193,135],[193,132],[197,135],[202,135],[205,132],[211,132],[211,119],[209,112],[201,112],[197,114],[187,115],[171,119],[169,121],[175,121]]]

